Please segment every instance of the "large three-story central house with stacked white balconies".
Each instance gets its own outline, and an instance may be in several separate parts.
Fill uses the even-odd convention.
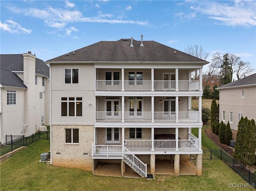
[[[51,83],[51,162],[96,168],[98,162],[155,174],[159,159],[196,155],[202,174],[202,67],[198,59],[155,41],[100,41],[46,61]],[[199,70],[200,80],[191,80]],[[191,109],[199,97],[199,111]],[[198,137],[191,134],[198,128]]]

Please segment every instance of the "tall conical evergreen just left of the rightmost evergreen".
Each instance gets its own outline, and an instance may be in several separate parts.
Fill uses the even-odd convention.
[[[233,154],[234,159],[242,162],[244,159],[244,133],[245,133],[245,121],[244,117],[241,117],[240,121],[238,122],[238,130],[236,134],[236,144],[235,144],[235,151]]]

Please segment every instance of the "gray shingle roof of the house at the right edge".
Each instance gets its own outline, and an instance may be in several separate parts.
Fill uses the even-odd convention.
[[[242,79],[236,80],[234,82],[225,84],[223,86],[220,86],[217,89],[226,89],[226,88],[248,86],[248,85],[256,85],[256,73],[250,76],[244,77]]]

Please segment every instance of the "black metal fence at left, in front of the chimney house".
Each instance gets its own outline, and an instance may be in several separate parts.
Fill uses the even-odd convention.
[[[12,152],[22,146],[28,146],[39,139],[49,140],[50,132],[48,130],[39,131],[28,137],[24,137],[24,135],[6,135],[7,142],[0,145],[0,156]]]

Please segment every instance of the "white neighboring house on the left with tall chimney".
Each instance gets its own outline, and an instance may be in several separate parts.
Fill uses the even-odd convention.
[[[49,66],[31,52],[0,55],[0,142],[49,124]]]

